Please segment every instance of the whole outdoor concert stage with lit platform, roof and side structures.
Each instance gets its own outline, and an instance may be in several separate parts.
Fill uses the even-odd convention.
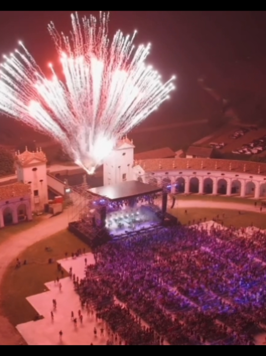
[[[133,180],[87,189],[85,194],[81,218],[70,222],[69,230],[92,247],[138,231],[155,229],[163,225],[169,215],[166,212],[167,191],[155,185]],[[158,201],[161,206],[156,205]]]

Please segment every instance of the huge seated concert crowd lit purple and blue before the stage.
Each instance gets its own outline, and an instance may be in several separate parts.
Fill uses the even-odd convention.
[[[266,324],[265,233],[204,225],[101,246],[76,284],[82,303],[128,345],[254,345]]]

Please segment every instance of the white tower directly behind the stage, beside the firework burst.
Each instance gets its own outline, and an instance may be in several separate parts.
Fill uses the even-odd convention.
[[[114,185],[134,180],[133,141],[127,137],[117,142],[116,147],[104,161],[104,185]]]

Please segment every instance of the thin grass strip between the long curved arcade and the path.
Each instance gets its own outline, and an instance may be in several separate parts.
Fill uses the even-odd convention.
[[[201,194],[177,194],[175,195],[177,200],[201,200],[201,201],[216,201],[221,203],[237,203],[254,205],[254,199],[240,198],[240,197],[226,197],[225,195],[201,195]],[[265,201],[265,200],[263,200]],[[259,204],[259,200],[257,200]]]

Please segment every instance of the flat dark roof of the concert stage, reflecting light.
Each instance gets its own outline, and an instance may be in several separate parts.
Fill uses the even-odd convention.
[[[137,180],[130,180],[116,185],[106,185],[104,187],[89,189],[88,192],[111,201],[126,200],[143,195],[150,195],[162,192],[161,188],[151,184],[144,184]]]

